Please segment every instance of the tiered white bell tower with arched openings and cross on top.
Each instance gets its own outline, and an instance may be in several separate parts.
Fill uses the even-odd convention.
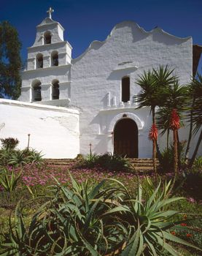
[[[34,45],[28,48],[26,69],[22,73],[21,101],[58,105],[55,99],[70,97],[71,50],[63,39],[63,26],[52,19],[54,10],[36,26]]]

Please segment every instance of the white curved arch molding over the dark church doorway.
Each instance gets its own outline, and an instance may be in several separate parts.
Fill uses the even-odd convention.
[[[123,115],[125,117],[123,117]],[[125,118],[131,118],[133,121],[136,122],[138,129],[143,129],[144,121],[141,121],[139,116],[136,116],[136,114],[134,113],[124,112],[124,113],[119,113],[112,118],[112,121],[109,124],[109,132],[112,132],[114,130],[114,126],[117,123],[117,121],[120,121],[121,119],[125,119]]]

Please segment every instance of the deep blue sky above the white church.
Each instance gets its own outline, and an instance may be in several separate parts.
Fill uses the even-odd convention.
[[[123,20],[133,20],[146,31],[160,26],[177,37],[192,36],[193,44],[202,45],[202,0],[0,0],[0,7],[0,20],[18,29],[24,60],[49,7],[55,10],[53,20],[66,29],[73,58],[93,40],[104,40]]]

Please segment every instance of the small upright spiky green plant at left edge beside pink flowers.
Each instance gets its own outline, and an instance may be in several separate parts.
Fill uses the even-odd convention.
[[[22,172],[15,175],[14,170],[10,173],[9,170],[4,169],[0,176],[0,185],[4,188],[7,192],[12,192],[17,187],[18,181],[20,179]]]

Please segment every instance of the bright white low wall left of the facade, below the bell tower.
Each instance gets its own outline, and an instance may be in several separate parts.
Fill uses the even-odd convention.
[[[69,108],[0,99],[0,138],[18,138],[18,148],[42,151],[45,158],[79,154],[79,112]]]

